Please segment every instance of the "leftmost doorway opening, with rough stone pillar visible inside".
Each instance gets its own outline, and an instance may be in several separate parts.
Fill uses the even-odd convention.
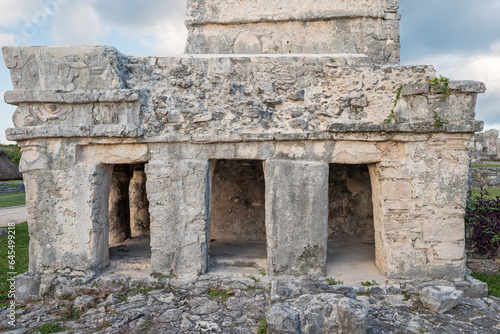
[[[112,270],[149,273],[149,202],[145,164],[113,165],[108,200],[109,260]]]

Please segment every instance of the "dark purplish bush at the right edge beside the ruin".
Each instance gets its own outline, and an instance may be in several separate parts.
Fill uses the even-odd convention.
[[[500,197],[489,197],[485,189],[467,202],[467,244],[478,254],[495,257],[500,249]]]

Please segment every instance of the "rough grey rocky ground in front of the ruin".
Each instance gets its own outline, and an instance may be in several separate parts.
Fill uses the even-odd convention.
[[[399,284],[118,276],[81,283],[42,283],[50,297],[18,306],[15,327],[0,309],[0,331],[36,333],[59,322],[72,333],[264,333],[267,319],[268,333],[500,333],[499,298],[460,298],[438,314],[423,307],[421,289]]]

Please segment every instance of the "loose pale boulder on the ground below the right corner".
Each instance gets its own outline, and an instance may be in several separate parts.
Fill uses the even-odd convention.
[[[424,307],[436,313],[445,313],[460,304],[464,293],[451,286],[428,286],[420,291]]]

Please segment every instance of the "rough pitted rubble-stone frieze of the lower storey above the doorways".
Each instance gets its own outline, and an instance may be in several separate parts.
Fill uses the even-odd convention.
[[[97,52],[94,48],[69,50],[75,52],[74,57],[82,59],[92,59]],[[107,49],[103,47],[103,50],[105,53]],[[23,52],[31,54],[33,51],[5,48],[4,56],[11,59]],[[58,58],[64,52],[69,51],[62,47],[46,48],[30,57],[38,64],[46,60],[47,54],[54,58],[55,65],[65,66],[64,60]],[[431,67],[423,67],[422,71],[415,71],[410,66],[369,67],[363,66],[362,59],[345,55],[333,58],[311,55],[136,58],[119,55],[109,66],[115,66],[113,71],[118,73],[124,86],[131,88],[129,90],[114,86],[108,86],[107,90],[97,89],[93,77],[82,74],[78,76],[81,86],[78,91],[55,91],[53,87],[52,90],[51,87],[39,87],[38,81],[26,79],[24,86],[16,86],[16,90],[8,92],[8,101],[18,105],[14,124],[19,128],[9,130],[9,138],[143,135],[159,138],[177,134],[198,136],[196,140],[200,140],[210,130],[207,139],[214,141],[221,140],[219,133],[247,134],[255,133],[256,129],[269,134],[310,133],[347,122],[378,125],[373,128],[364,125],[355,131],[384,131],[385,128],[379,125],[391,110],[397,87],[425,85],[434,71]],[[331,67],[331,64],[337,65]],[[29,77],[27,66],[16,66],[19,67],[12,68],[13,76]],[[125,68],[130,70],[126,76],[128,81],[123,81],[125,75],[120,72]],[[152,72],[154,74],[145,76]],[[240,78],[241,73],[245,73],[244,78]],[[392,79],[382,80],[386,76]],[[204,79],[199,80],[200,77]],[[151,90],[152,81],[162,84]],[[378,88],[360,89],[356,82]],[[328,83],[327,89],[325,83]],[[450,122],[447,131],[463,132],[472,127],[465,123],[473,120],[477,92],[465,86],[462,88],[466,91],[461,91],[461,87],[458,85],[452,91],[449,101],[441,103],[436,99],[444,108],[439,116]],[[429,103],[434,99],[431,93],[418,97]],[[445,106],[450,101],[455,108]],[[409,118],[403,124],[427,121],[429,127],[425,131],[433,132],[430,122],[433,114],[420,108],[421,105],[425,104],[409,105]],[[464,118],[465,110],[468,116]],[[405,131],[402,124],[388,125],[387,130],[398,125],[392,131]],[[466,131],[473,130],[472,127]],[[406,131],[416,130],[408,128]]]

